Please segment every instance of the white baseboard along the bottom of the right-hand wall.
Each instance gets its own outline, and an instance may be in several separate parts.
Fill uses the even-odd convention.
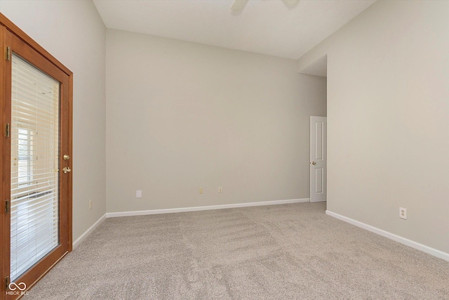
[[[329,216],[333,216],[336,219],[340,219],[342,221],[345,221],[349,224],[352,224],[354,226],[366,229],[368,231],[371,231],[372,233],[377,233],[378,235],[382,235],[382,237],[387,237],[390,240],[394,240],[396,242],[400,242],[401,244],[405,244],[408,247],[415,248],[417,250],[420,250],[422,252],[426,252],[427,254],[431,254],[433,256],[438,257],[439,259],[444,259],[445,261],[449,261],[449,253],[442,252],[438,249],[431,248],[429,246],[426,246],[425,244],[420,244],[419,242],[414,242],[413,240],[408,240],[405,237],[401,237],[399,235],[395,235],[393,233],[389,233],[388,231],[376,228],[374,226],[370,226],[366,223],[362,223],[359,221],[356,221],[354,219],[350,219],[347,216],[342,216],[341,214],[336,214],[333,211],[326,210],[326,214]]]

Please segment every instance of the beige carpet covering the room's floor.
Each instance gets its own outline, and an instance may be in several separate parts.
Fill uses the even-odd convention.
[[[107,219],[23,299],[449,299],[449,262],[324,203]]]

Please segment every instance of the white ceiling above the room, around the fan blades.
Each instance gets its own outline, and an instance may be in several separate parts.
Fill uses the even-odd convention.
[[[105,26],[298,59],[375,0],[93,0]]]

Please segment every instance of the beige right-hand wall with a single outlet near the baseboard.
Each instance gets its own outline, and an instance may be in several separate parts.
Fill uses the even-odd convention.
[[[448,15],[377,1],[298,62],[328,55],[328,210],[446,253]]]

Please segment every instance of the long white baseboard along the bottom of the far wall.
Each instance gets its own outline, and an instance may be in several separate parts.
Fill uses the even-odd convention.
[[[182,208],[177,208],[177,209],[153,209],[153,210],[144,210],[144,211],[108,212],[106,214],[106,217],[114,218],[116,216],[143,216],[143,215],[147,215],[147,214],[171,214],[171,213],[175,213],[175,212],[203,211],[203,210],[211,210],[211,209],[232,209],[232,208],[236,208],[236,207],[258,207],[258,206],[262,206],[262,205],[288,204],[288,203],[300,203],[300,202],[310,202],[310,198],[210,205],[210,206],[206,206],[206,207],[182,207]]]

